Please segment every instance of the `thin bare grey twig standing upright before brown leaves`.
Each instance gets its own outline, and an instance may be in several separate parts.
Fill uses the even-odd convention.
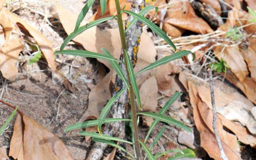
[[[218,136],[218,130],[217,130],[217,113],[216,113],[216,106],[215,106],[215,98],[214,98],[214,90],[213,90],[213,82],[212,82],[212,69],[211,68],[208,68],[207,69],[207,72],[209,74],[209,84],[210,84],[210,90],[211,90],[211,99],[212,99],[212,113],[213,113],[213,121],[212,121],[212,127],[213,127],[213,130],[214,130],[214,134],[215,134],[215,137],[216,137],[216,141],[218,143],[218,148],[220,150],[220,153],[221,153],[221,159],[222,160],[228,160],[223,148],[222,148],[222,145],[221,145],[221,140]]]

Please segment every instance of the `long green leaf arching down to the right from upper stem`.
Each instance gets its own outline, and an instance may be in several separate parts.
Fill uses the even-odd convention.
[[[145,25],[147,25],[154,33],[156,33],[158,36],[163,38],[175,51],[176,47],[172,43],[171,39],[166,35],[166,33],[159,28],[157,25],[155,25],[153,22],[145,18],[144,16],[141,16],[140,14],[134,13],[132,11],[123,11],[125,13],[131,14],[134,18],[137,18],[140,22],[143,22]]]

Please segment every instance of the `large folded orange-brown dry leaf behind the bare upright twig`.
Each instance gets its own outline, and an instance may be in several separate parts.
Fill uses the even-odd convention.
[[[189,98],[193,107],[195,125],[200,132],[201,146],[207,151],[210,157],[214,158],[215,160],[221,160],[215,135],[212,132],[212,110],[208,109],[207,105],[201,101],[198,96],[198,90],[194,83],[195,82],[188,81]],[[199,109],[201,109],[201,112]],[[207,117],[205,117],[206,115]],[[236,142],[236,137],[226,132],[222,128],[220,121],[218,123],[218,132],[220,134],[222,147],[227,157],[232,160],[240,160],[239,145]]]

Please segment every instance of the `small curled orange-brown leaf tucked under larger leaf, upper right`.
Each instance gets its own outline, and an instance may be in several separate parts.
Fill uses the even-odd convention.
[[[168,36],[176,38],[181,36],[185,32],[185,29],[172,26],[169,23],[165,22],[163,23],[163,31],[165,31]]]

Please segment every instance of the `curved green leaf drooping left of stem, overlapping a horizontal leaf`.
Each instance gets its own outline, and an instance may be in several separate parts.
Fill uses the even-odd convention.
[[[106,106],[102,109],[102,112],[99,115],[98,118],[98,131],[99,134],[102,135],[102,131],[101,131],[101,126],[103,123],[103,120],[105,119],[105,117],[107,116],[109,109],[111,108],[111,106],[113,105],[113,103],[116,101],[116,99],[127,89],[128,87],[125,87],[124,89],[120,90],[119,93],[117,93],[116,95],[114,95],[106,104]]]

